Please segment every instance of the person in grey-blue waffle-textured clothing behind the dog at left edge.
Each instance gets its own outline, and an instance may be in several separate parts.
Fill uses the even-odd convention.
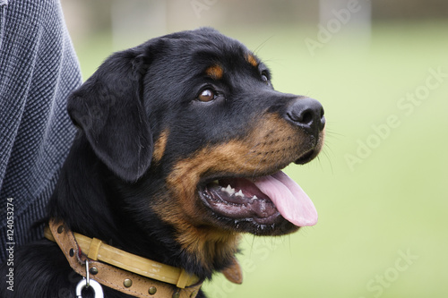
[[[72,143],[66,98],[82,83],[58,0],[0,0],[0,263],[43,235]]]

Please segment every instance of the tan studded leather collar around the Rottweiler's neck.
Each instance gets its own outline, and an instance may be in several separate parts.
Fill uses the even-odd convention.
[[[199,292],[202,280],[175,268],[118,250],[97,238],[73,233],[63,221],[50,219],[45,237],[57,243],[73,270],[86,277],[89,261],[90,278],[135,297],[191,297]],[[238,266],[239,267],[239,266]]]

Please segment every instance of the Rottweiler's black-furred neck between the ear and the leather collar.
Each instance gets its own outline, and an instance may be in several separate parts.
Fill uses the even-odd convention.
[[[158,180],[163,178],[154,175],[149,180],[162,183]],[[233,255],[228,254],[228,260],[222,260],[222,251],[211,256],[207,264],[183,251],[173,228],[143,206],[151,198],[139,200],[142,198],[136,198],[138,195],[129,192],[130,189],[134,189],[130,183],[117,183],[116,176],[99,161],[89,143],[79,138],[62,169],[49,216],[63,219],[73,232],[99,238],[143,258],[185,268],[200,278],[210,278],[214,271],[231,264]],[[143,205],[137,208],[136,200]]]

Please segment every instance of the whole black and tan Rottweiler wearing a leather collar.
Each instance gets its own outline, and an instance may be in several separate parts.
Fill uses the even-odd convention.
[[[281,170],[322,149],[323,106],[274,90],[268,67],[217,30],[109,56],[67,110],[79,130],[48,203],[47,238],[16,251],[14,297],[205,297],[215,272],[241,282],[240,234],[317,221]],[[103,261],[105,248],[116,263]]]

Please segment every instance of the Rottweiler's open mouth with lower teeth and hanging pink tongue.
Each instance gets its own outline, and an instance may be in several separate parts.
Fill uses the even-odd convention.
[[[281,217],[294,226],[314,226],[313,202],[288,175],[279,171],[257,178],[224,178],[205,183],[199,190],[202,201],[218,216],[273,225]]]

